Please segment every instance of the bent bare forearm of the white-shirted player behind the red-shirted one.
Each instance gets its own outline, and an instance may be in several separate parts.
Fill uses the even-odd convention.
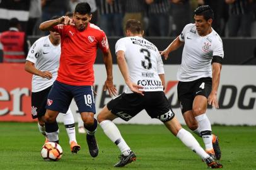
[[[39,71],[38,69],[35,68],[35,64],[33,64],[33,62],[30,62],[28,60],[26,60],[26,63],[25,63],[25,71],[43,78],[52,79],[52,73],[50,73],[49,71],[43,71],[43,72]]]

